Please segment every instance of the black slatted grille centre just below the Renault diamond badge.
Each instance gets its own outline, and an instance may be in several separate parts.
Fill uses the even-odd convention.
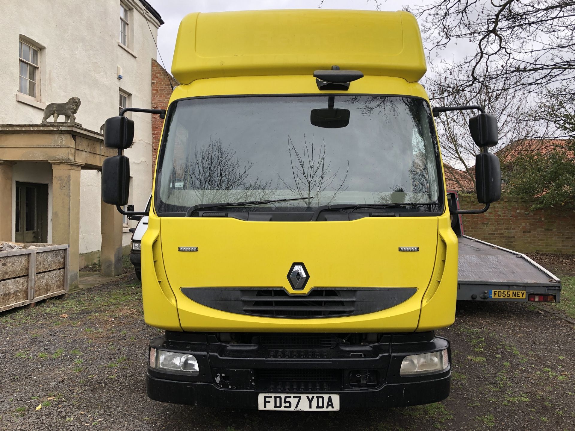
[[[355,290],[316,289],[290,295],[283,289],[243,290],[244,313],[266,317],[335,317],[354,314]]]

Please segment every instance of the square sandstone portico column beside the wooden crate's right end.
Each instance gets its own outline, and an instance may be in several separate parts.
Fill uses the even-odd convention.
[[[68,287],[78,287],[80,170],[82,163],[52,163],[52,243],[70,244]]]

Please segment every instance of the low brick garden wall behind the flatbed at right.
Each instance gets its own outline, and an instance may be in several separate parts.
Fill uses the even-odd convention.
[[[474,195],[459,195],[461,209],[482,207]],[[575,211],[531,211],[532,202],[503,197],[483,214],[463,216],[465,234],[521,253],[575,255]]]

